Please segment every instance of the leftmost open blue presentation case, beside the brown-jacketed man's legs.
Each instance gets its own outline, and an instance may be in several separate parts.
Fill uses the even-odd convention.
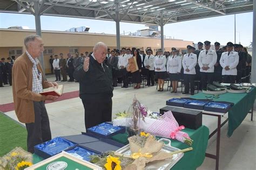
[[[35,154],[40,157],[47,159],[56,155],[62,151],[68,150],[69,148],[76,146],[76,143],[73,143],[69,140],[66,140],[61,137],[53,138],[49,141],[45,141],[42,144],[34,146]]]

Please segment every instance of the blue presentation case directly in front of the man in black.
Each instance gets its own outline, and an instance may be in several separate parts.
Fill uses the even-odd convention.
[[[123,126],[113,126],[113,124],[105,122],[86,129],[86,132],[95,134],[99,138],[111,139],[117,133],[125,133],[125,128]]]

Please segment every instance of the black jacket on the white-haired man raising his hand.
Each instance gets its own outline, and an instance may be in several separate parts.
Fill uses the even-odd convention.
[[[91,55],[89,70],[83,69],[83,64],[79,65],[73,76],[79,81],[79,97],[82,99],[107,100],[113,96],[112,74],[122,76],[127,73],[126,68],[114,69],[111,65],[98,63]],[[99,107],[99,106],[96,106]]]

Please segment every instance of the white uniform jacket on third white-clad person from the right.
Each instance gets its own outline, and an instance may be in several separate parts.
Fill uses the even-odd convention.
[[[197,65],[197,54],[185,54],[182,60],[182,66],[184,68],[184,74],[196,74],[196,69],[194,67]],[[190,71],[187,72],[186,69]]]

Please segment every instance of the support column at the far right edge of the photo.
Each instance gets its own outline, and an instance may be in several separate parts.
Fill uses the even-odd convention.
[[[256,1],[253,1],[253,29],[252,29],[252,83],[256,83]]]

